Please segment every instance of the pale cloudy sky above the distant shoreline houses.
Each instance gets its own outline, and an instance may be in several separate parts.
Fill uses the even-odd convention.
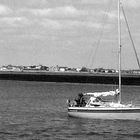
[[[140,0],[123,0],[140,59]],[[138,69],[122,20],[122,68]],[[118,68],[116,0],[0,0],[0,65]]]

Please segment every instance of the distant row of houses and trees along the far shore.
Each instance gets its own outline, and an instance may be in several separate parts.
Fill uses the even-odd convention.
[[[50,71],[50,72],[89,72],[89,73],[118,73],[115,69],[95,68],[89,69],[82,68],[70,68],[63,66],[43,66],[43,65],[31,65],[31,66],[13,66],[7,65],[0,67],[0,71]],[[123,73],[127,74],[140,74],[140,70],[123,70]]]

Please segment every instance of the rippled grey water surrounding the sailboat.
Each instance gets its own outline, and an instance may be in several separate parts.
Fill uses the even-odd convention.
[[[0,140],[139,140],[140,121],[67,116],[66,100],[112,85],[0,81]],[[140,103],[140,87],[123,86],[122,100]]]

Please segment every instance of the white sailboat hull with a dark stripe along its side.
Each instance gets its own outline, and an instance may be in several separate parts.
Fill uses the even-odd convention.
[[[140,108],[69,107],[68,115],[70,117],[89,119],[140,120]]]

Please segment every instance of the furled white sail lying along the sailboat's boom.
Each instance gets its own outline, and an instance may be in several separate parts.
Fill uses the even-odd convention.
[[[94,96],[94,97],[100,97],[100,96],[114,96],[118,95],[119,90],[116,89],[115,91],[107,91],[107,92],[94,92],[94,93],[84,93],[84,95]]]

